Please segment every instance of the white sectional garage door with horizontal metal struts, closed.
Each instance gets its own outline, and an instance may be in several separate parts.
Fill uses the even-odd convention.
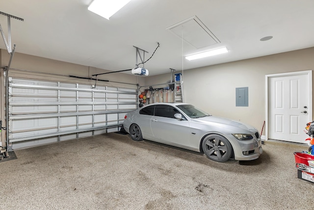
[[[9,78],[10,150],[118,131],[137,90]]]

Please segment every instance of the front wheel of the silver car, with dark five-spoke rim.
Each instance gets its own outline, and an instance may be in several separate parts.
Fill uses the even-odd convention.
[[[226,162],[233,154],[230,142],[225,137],[217,134],[205,136],[202,149],[209,159],[217,162]]]

